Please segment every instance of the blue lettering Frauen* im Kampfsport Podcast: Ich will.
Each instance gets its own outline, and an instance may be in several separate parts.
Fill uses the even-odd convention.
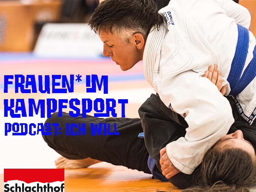
[[[85,82],[84,90],[86,93],[96,93],[103,91],[104,94],[108,94],[108,76],[98,75],[5,75],[4,76],[4,93],[15,90],[15,93],[29,94],[29,93],[72,93],[74,92],[74,83]],[[86,94],[85,94],[86,96]],[[68,114],[71,117],[82,117],[86,118],[86,114],[94,111],[94,117],[117,117],[116,106],[120,105],[121,114],[119,116],[125,117],[125,104],[128,103],[128,99],[90,99],[90,98],[71,98],[71,99],[39,99],[34,98],[10,98],[4,99],[4,117],[20,118],[20,117],[32,117],[39,114],[40,117],[50,118],[54,112],[59,112],[59,117],[62,116],[63,109],[68,109]],[[80,126],[80,125],[79,125]],[[79,128],[79,126],[77,128]],[[54,126],[53,126],[54,127]],[[70,135],[74,135],[75,131],[70,130],[75,128],[75,125],[67,126],[69,130],[67,132]],[[83,127],[83,125],[81,125]],[[95,126],[93,126],[95,127]],[[96,130],[101,127],[97,125]],[[107,132],[108,129],[104,129],[105,125],[102,125],[102,134]],[[108,125],[106,125],[108,127]],[[85,131],[85,128],[84,128]],[[12,135],[35,135],[41,132],[45,134],[42,123],[39,124],[21,124],[21,123],[5,123],[5,135],[12,132]],[[95,131],[98,134],[100,131]],[[56,130],[56,134],[59,131]],[[82,131],[83,133],[83,131]],[[77,133],[78,134],[78,133]],[[80,134],[80,133],[79,133]],[[115,134],[115,133],[113,133]],[[117,133],[118,134],[118,133]]]

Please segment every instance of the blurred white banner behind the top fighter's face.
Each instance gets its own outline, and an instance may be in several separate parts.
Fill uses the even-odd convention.
[[[34,52],[43,57],[94,58],[102,55],[103,43],[87,23],[45,24]]]

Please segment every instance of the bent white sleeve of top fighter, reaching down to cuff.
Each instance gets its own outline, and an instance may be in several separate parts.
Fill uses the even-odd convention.
[[[210,80],[193,71],[164,77],[161,87],[161,100],[177,113],[186,113],[188,123],[185,137],[166,146],[167,155],[181,172],[191,174],[206,151],[227,134],[234,122],[232,109]]]

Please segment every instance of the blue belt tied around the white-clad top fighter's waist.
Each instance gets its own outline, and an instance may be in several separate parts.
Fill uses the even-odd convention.
[[[227,79],[231,88],[229,94],[233,96],[237,96],[239,93],[241,93],[256,76],[256,46],[253,50],[253,59],[241,76],[248,53],[249,30],[239,24],[237,24],[237,29],[238,38],[236,52]]]

